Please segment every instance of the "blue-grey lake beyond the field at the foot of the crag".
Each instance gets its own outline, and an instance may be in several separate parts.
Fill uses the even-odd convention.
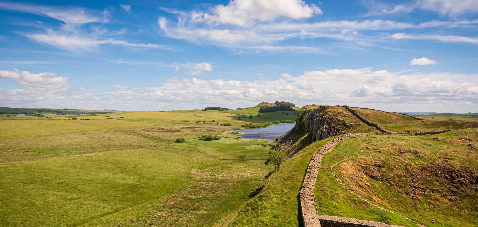
[[[294,127],[292,124],[276,124],[271,125],[266,128],[250,128],[250,129],[237,129],[230,130],[231,132],[242,132],[247,133],[240,136],[240,138],[250,138],[250,139],[263,139],[263,140],[275,140],[275,138],[280,137],[287,133],[291,128]]]

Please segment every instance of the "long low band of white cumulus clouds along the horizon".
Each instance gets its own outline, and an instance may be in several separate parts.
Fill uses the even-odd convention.
[[[30,74],[19,70],[0,71],[1,78],[27,85],[26,89],[2,89],[1,105],[58,107],[75,102],[84,108],[138,110],[154,106],[167,110],[185,103],[190,109],[210,105],[237,108],[261,101],[290,100],[297,106],[354,105],[390,111],[426,107],[429,111],[454,108],[456,112],[469,112],[478,103],[478,75],[449,72],[404,75],[362,68],[304,71],[302,75],[283,73],[280,79],[251,81],[171,78],[147,88],[130,89],[127,85],[115,84],[111,91],[100,93],[65,90],[71,85],[53,73]],[[33,86],[43,83],[48,83],[50,88],[55,85],[55,90]]]

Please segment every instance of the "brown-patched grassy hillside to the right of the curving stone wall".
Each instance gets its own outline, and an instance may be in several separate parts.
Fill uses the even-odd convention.
[[[478,160],[477,151],[467,144],[477,146],[477,135],[477,129],[465,129],[435,136],[377,135],[349,139],[322,161],[324,171],[319,173],[315,189],[319,213],[415,226],[366,205],[332,176],[331,165],[357,154],[362,146],[371,149],[364,149],[359,156],[336,167],[339,178],[354,192],[429,227],[476,226],[478,193],[474,171]],[[376,163],[380,163],[380,167]],[[444,177],[445,173],[451,176],[449,172],[453,170],[470,178],[462,177],[467,180],[454,184],[452,178]],[[371,176],[378,176],[378,180]],[[449,198],[455,199],[456,204]],[[435,224],[431,223],[432,219]]]

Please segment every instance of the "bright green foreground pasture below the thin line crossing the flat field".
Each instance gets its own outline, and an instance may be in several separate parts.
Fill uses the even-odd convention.
[[[132,223],[142,225],[152,219],[148,216],[152,205],[163,207],[163,199],[175,201],[174,196],[191,188],[205,194],[223,191],[211,203],[211,195],[194,200],[200,203],[196,209],[206,213],[184,211],[180,222],[211,225],[245,203],[250,190],[271,168],[261,160],[219,160],[203,153],[265,158],[268,149],[256,146],[254,140],[230,138],[181,145],[188,144],[0,164],[0,194],[9,195],[0,199],[0,225],[104,226],[130,223],[133,218],[137,220]],[[237,152],[228,153],[228,149]],[[217,184],[199,187],[207,182]],[[191,202],[183,205],[190,207]],[[171,207],[163,209],[174,212]]]

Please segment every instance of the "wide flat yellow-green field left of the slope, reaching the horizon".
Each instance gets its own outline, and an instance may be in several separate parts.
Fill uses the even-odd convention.
[[[47,117],[0,117],[2,227],[220,225],[272,170],[269,142],[227,132],[269,118],[200,110]],[[90,151],[99,152],[74,154]]]

